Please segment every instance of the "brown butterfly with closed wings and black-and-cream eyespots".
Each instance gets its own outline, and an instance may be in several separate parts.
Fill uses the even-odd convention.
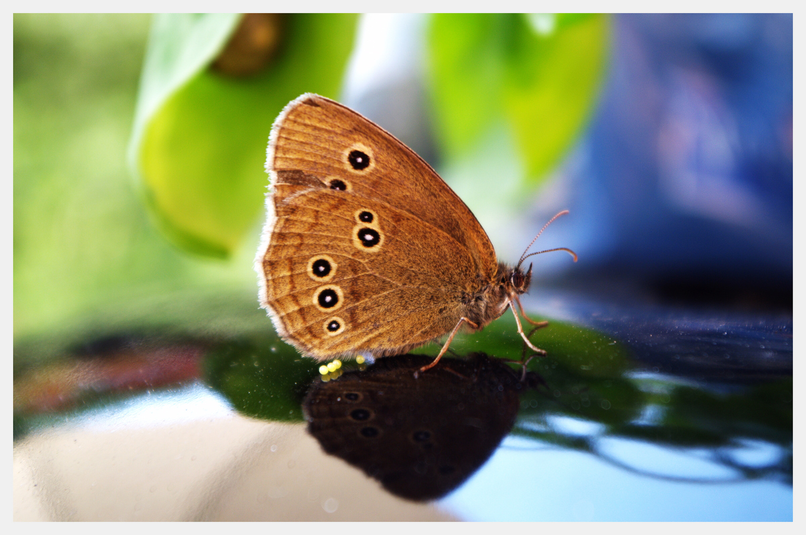
[[[526,317],[518,298],[532,276],[521,265],[539,253],[527,247],[516,266],[499,262],[459,196],[374,122],[305,93],[276,118],[266,170],[260,305],[302,354],[400,355],[448,334],[425,371],[462,326],[481,330],[509,308],[526,345],[545,355],[514,309],[547,324]]]

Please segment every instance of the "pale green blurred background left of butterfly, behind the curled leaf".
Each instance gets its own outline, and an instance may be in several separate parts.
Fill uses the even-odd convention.
[[[238,247],[226,262],[189,255],[166,239],[164,218],[143,203],[127,168],[151,20],[15,15],[15,363],[110,333],[215,339],[271,330],[251,268],[268,184],[265,143],[273,118],[302,89],[276,95],[255,118],[260,131],[251,126],[258,154]],[[343,23],[334,31],[345,34]],[[331,94],[341,75],[331,69]],[[217,188],[231,173],[219,180]],[[244,211],[237,203],[228,209]]]

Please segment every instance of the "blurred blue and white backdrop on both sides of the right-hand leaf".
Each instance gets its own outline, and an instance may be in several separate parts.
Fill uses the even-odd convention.
[[[467,168],[441,165],[419,15],[363,19],[345,99],[434,164],[506,259],[570,209],[536,247],[572,247],[580,263],[534,258],[538,276],[565,274],[592,291],[606,277],[621,295],[638,285],[632,293],[661,301],[790,309],[791,15],[611,20],[592,118],[522,215],[505,201],[496,210],[496,190],[518,170],[494,136]]]

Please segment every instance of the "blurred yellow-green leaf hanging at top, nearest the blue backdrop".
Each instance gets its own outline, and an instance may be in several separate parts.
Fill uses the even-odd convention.
[[[604,72],[606,15],[434,15],[428,35],[437,134],[449,159],[504,118],[529,187],[579,134]]]

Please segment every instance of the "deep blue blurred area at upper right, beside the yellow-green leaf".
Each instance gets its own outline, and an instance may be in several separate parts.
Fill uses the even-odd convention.
[[[591,259],[791,302],[791,15],[614,22],[605,93],[565,176]]]

